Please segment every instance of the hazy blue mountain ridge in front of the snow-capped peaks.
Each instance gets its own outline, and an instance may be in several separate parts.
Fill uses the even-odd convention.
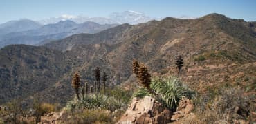
[[[29,25],[29,23],[31,25]],[[40,25],[30,20],[14,21],[0,26],[0,48],[10,44],[44,44],[47,43],[47,41],[62,39],[72,34],[93,34],[116,25],[117,24],[100,25],[95,22],[78,24],[69,20],[48,25]],[[11,30],[8,30],[9,28]]]

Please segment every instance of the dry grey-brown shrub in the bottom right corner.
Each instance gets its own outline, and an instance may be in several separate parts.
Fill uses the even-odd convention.
[[[250,99],[238,88],[208,92],[195,101],[195,113],[205,123],[219,121],[235,123],[239,119],[248,120]]]

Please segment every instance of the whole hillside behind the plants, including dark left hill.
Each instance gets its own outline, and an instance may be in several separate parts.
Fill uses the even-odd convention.
[[[80,72],[82,81],[93,84],[93,70],[99,66],[109,73],[111,85],[130,84],[134,81],[134,76],[131,76],[132,59],[146,63],[154,76],[176,75],[174,59],[181,54],[185,62],[181,78],[193,89],[204,92],[212,87],[239,86],[247,92],[254,92],[255,27],[255,22],[209,14],[199,19],[165,18],[138,25],[123,24],[98,34],[75,34],[47,43],[44,47],[9,46],[1,49],[1,58],[4,58],[0,59],[1,85],[20,84],[28,93],[24,98],[33,94],[30,92],[33,90],[46,94],[47,101],[65,103],[73,94],[71,76],[75,71]],[[33,57],[24,56],[26,52],[8,54],[8,51],[21,48]],[[14,59],[8,59],[9,56]],[[40,60],[42,56],[48,60],[47,65],[42,69],[33,67],[34,64],[46,64]],[[23,59],[31,59],[33,64]],[[6,64],[2,64],[4,61]],[[10,61],[27,72],[14,70]],[[31,73],[35,75],[35,81],[19,78],[30,77]],[[28,85],[26,83],[44,86],[34,89],[24,87]],[[16,86],[12,88],[21,94]],[[2,85],[2,89],[5,89],[1,92],[2,103],[13,98],[10,92],[6,92],[6,85]]]

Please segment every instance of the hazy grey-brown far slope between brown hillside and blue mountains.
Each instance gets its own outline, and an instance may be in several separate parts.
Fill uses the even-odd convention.
[[[126,34],[127,30],[130,28],[131,25],[126,23],[123,25],[118,25],[114,28],[109,28],[108,30],[104,30],[97,34],[75,34],[65,39],[46,43],[45,46],[55,50],[66,51],[71,50],[74,46],[83,44],[120,43],[123,39],[130,37]]]

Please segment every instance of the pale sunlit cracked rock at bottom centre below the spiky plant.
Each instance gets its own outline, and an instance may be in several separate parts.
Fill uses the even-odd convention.
[[[172,112],[150,96],[134,98],[118,124],[170,123]]]

